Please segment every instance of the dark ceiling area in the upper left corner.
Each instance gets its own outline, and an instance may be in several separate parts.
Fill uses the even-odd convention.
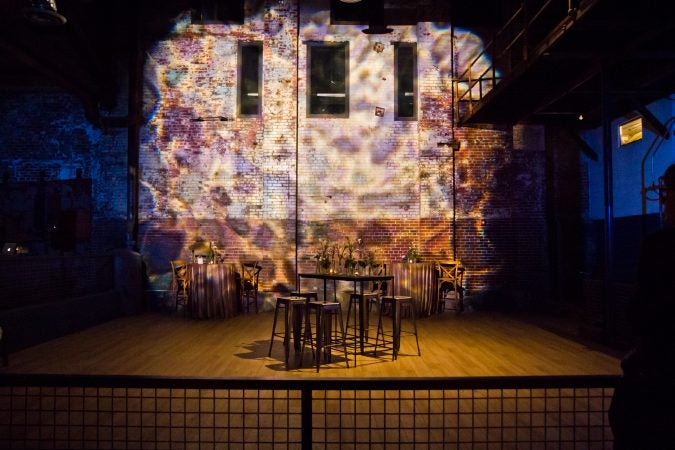
[[[56,0],[66,22],[51,26],[26,20],[30,0],[3,2],[0,88],[66,89],[92,121],[116,106],[141,39],[168,32],[174,13],[189,8],[187,0]]]

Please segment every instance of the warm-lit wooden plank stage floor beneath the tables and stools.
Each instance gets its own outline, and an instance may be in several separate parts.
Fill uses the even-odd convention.
[[[358,355],[312,367],[306,351],[286,368],[276,341],[267,356],[271,312],[226,320],[193,320],[146,313],[120,318],[10,355],[5,373],[158,375],[225,378],[466,377],[620,374],[615,352],[584,345],[552,331],[491,312],[451,312],[418,320],[422,356],[404,337],[396,361],[390,353]],[[376,323],[374,320],[372,324]],[[405,325],[405,322],[404,322]],[[371,336],[375,329],[371,328]]]

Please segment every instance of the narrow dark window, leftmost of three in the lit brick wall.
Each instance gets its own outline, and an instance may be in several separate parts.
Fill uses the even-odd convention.
[[[259,116],[261,105],[262,44],[239,45],[239,115]]]

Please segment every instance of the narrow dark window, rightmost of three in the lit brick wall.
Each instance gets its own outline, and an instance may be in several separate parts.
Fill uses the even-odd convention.
[[[417,118],[417,45],[394,43],[394,80],[396,83],[396,120]]]

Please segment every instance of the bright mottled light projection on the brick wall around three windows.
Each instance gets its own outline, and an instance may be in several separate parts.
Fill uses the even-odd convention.
[[[162,255],[149,267],[165,270],[167,253],[185,256],[190,243],[206,239],[229,249],[229,260],[265,259],[271,276],[293,279],[296,207],[305,247],[331,233],[314,223],[352,222],[353,238],[361,224],[376,220],[449,217],[447,161],[441,157],[422,170],[420,153],[436,148],[451,129],[450,27],[394,27],[382,45],[381,37],[361,33],[364,26],[330,25],[328,2],[319,3],[303,5],[297,35],[294,15],[277,2],[249,12],[243,25],[190,25],[185,14],[148,52],[145,99],[152,116],[143,130],[139,217],[142,247]],[[480,50],[469,31],[455,33],[460,62]],[[241,41],[263,42],[259,118],[235,116]],[[307,117],[306,41],[349,42],[348,118]],[[419,121],[394,120],[390,41],[417,42]],[[383,115],[373,114],[376,106]],[[199,117],[232,120],[194,120]],[[159,242],[163,231],[176,239]],[[409,231],[391,241],[407,248]],[[171,251],[160,250],[167,245]]]

